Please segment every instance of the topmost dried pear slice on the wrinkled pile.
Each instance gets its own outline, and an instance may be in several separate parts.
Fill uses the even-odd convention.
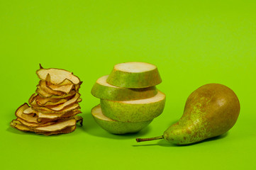
[[[36,74],[38,74],[38,78],[41,80],[45,80],[49,74],[50,82],[56,85],[62,84],[66,79],[72,81],[73,84],[79,84],[80,82],[78,77],[65,69],[38,69]]]

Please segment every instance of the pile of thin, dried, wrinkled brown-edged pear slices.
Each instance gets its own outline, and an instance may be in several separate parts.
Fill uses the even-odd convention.
[[[11,126],[18,130],[43,135],[57,135],[73,132],[76,123],[82,125],[79,102],[82,101],[79,88],[82,81],[72,72],[64,69],[40,69],[36,71],[40,79],[36,94],[28,103],[20,106]]]

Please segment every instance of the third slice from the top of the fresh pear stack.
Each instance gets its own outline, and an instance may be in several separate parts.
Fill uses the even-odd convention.
[[[104,115],[121,122],[143,122],[152,120],[165,108],[165,94],[161,91],[152,98],[134,101],[108,101],[101,99]]]

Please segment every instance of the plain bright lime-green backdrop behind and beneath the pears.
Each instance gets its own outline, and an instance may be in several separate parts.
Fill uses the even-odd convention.
[[[1,1],[0,169],[255,169],[255,1]],[[141,132],[111,135],[91,118],[90,91],[114,64],[160,70],[165,111]],[[38,64],[74,72],[84,84],[84,126],[45,137],[9,127],[35,92]],[[183,112],[192,91],[229,86],[240,116],[222,137],[179,147],[155,137]]]

